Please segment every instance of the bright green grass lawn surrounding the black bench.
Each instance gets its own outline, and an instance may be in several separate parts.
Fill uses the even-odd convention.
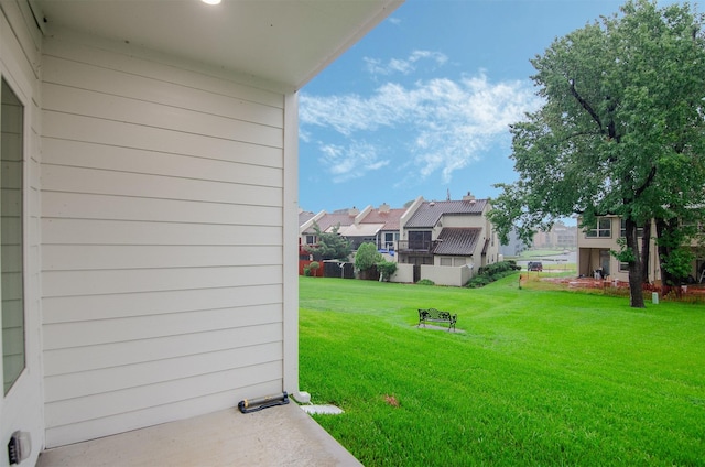
[[[705,465],[705,307],[301,278],[301,388],[372,466]],[[419,307],[464,333],[416,328]]]

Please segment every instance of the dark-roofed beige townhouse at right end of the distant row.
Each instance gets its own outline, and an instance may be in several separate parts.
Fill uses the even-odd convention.
[[[480,268],[499,260],[499,241],[487,218],[487,199],[416,199],[401,219],[400,263]]]

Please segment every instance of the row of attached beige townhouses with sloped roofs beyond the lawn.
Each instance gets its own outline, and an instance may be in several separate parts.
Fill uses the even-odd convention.
[[[400,263],[392,281],[424,279],[424,267],[425,279],[464,285],[479,268],[500,260],[499,240],[487,217],[489,209],[487,199],[475,199],[468,194],[460,200],[445,202],[426,202],[420,196],[408,208],[382,204],[378,209],[368,206],[361,211],[356,208],[322,211],[302,217],[301,248],[305,251],[306,245],[316,243],[315,222],[321,231],[338,228],[338,234],[350,240],[354,251],[364,242],[375,243],[387,261]]]

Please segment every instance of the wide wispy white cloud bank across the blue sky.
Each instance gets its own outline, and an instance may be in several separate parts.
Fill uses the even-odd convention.
[[[302,94],[300,120],[306,138],[311,138],[313,127],[339,133],[336,145],[321,143],[321,163],[338,182],[390,164],[389,160],[379,160],[382,149],[359,141],[391,138],[397,141],[395,151],[403,152],[403,159],[394,163],[406,171],[401,183],[406,177],[419,180],[435,173],[447,183],[454,172],[507,140],[509,124],[523,119],[539,104],[529,83],[490,83],[479,73],[458,80],[436,78],[410,86],[387,83],[369,97]]]

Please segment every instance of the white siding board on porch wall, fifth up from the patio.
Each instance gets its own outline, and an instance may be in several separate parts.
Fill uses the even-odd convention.
[[[189,333],[258,326],[281,323],[281,306],[272,304],[51,324],[44,327],[44,347],[47,350],[89,347],[100,344],[128,343]],[[250,330],[256,333],[257,328]]]

